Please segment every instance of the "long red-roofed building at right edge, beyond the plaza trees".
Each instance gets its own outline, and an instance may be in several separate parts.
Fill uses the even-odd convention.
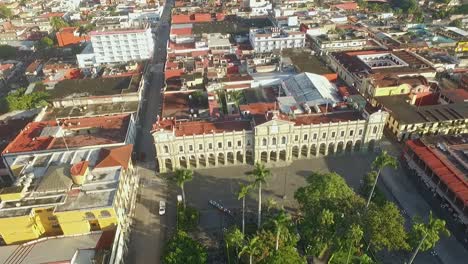
[[[403,151],[411,174],[449,204],[465,225],[468,224],[467,140],[468,134],[423,137],[408,140]]]

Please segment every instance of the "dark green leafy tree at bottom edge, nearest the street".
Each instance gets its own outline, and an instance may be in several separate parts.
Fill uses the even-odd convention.
[[[164,264],[204,264],[207,262],[207,256],[205,248],[200,243],[179,230],[167,242],[161,261]]]

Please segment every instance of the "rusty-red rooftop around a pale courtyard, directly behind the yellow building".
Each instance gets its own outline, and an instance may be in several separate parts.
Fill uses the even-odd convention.
[[[123,143],[130,114],[29,123],[3,154]]]

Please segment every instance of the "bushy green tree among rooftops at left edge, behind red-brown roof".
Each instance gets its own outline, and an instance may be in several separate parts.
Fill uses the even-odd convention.
[[[28,110],[47,105],[49,94],[47,92],[32,92],[25,94],[26,89],[20,88],[6,97],[8,110]]]

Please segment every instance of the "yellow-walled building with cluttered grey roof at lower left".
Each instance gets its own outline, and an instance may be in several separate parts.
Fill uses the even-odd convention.
[[[127,228],[138,185],[132,149],[125,145],[18,157],[31,162],[14,186],[0,190],[3,240],[16,244]],[[82,157],[89,160],[81,161]]]

